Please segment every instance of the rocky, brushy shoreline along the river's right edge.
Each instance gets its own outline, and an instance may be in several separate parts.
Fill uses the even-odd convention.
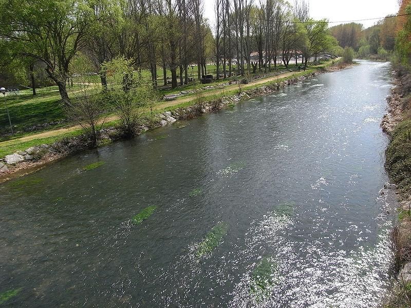
[[[407,129],[406,110],[408,103],[407,95],[410,93],[404,85],[407,84],[407,73],[401,75],[400,69],[396,68],[393,72],[394,86],[391,88],[387,100],[387,112],[381,121],[381,128],[390,138],[385,151],[385,168],[389,175],[390,181],[396,187],[396,195],[399,202],[398,220],[391,233],[393,242],[394,274],[395,280],[391,286],[391,292],[387,307],[405,307],[409,304],[409,287],[411,286],[411,191],[405,184],[400,181],[398,172],[406,168],[407,158],[411,157],[410,152],[403,150],[405,143],[401,136],[402,128]],[[404,126],[404,127],[402,127]],[[398,167],[398,164],[403,164]],[[398,170],[399,169],[399,170]],[[406,175],[405,175],[406,177]]]

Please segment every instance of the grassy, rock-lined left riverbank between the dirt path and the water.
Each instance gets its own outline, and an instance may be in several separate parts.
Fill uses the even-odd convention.
[[[295,84],[320,73],[340,70],[346,67],[341,64],[326,64],[307,70],[306,72],[287,73],[285,76],[276,76],[266,80],[259,80],[255,84],[235,85],[236,90],[227,89],[215,91],[208,97],[184,98],[178,102],[164,103],[154,119],[145,121],[139,127],[139,133],[149,129],[174,124],[179,120],[189,120],[199,117],[201,114],[215,112],[233,104],[276,92],[280,88]],[[178,126],[177,124],[174,124]],[[183,125],[182,125],[183,126]],[[99,145],[105,145],[121,139],[115,126],[104,128],[101,131]],[[81,133],[66,137],[62,140],[30,146],[6,155],[0,160],[0,182],[5,182],[15,177],[25,175],[42,168],[43,166],[69,156],[73,153],[90,148],[91,145]]]

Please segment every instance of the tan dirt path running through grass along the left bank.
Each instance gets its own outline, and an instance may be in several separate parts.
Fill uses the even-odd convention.
[[[265,84],[267,82],[276,81],[277,79],[281,79],[281,78],[287,78],[287,77],[289,77],[289,76],[291,76],[295,73],[296,72],[293,71],[293,72],[288,72],[288,73],[284,73],[284,74],[279,74],[277,76],[273,76],[273,77],[270,77],[270,78],[260,79],[260,80],[257,80],[257,81],[254,81],[254,82],[251,82],[251,83],[247,84],[247,87],[260,85],[260,84]],[[219,93],[222,93],[223,91],[231,91],[231,90],[235,90],[235,89],[238,89],[237,85],[232,85],[232,86],[222,88],[220,90],[215,90],[215,91],[212,91],[212,93],[213,94],[219,94]],[[211,94],[211,92],[206,92],[205,94],[206,95]],[[166,108],[166,107],[179,105],[181,103],[186,103],[186,102],[189,102],[189,101],[192,101],[192,100],[194,100],[194,97],[190,96],[190,97],[181,98],[181,99],[178,99],[178,100],[175,100],[175,101],[164,102],[164,103],[156,105],[154,107],[154,109],[157,109],[157,110],[158,109],[163,109],[163,108]],[[114,120],[117,120],[117,119],[118,119],[118,117],[116,115],[113,115],[113,116],[110,116],[108,118],[105,118],[104,121],[105,122],[110,122],[110,121],[114,121]],[[29,135],[29,136],[25,136],[25,137],[13,139],[13,140],[0,142],[0,147],[1,146],[7,146],[7,145],[13,144],[13,143],[30,141],[30,140],[33,140],[33,139],[42,139],[42,138],[59,136],[61,134],[68,133],[68,132],[71,132],[71,131],[74,131],[74,130],[79,130],[79,129],[81,129],[80,125],[71,125],[71,126],[66,126],[66,127],[62,127],[62,128],[53,129],[53,130],[34,133],[34,134]]]

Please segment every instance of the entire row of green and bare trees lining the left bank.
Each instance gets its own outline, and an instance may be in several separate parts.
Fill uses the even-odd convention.
[[[45,71],[69,103],[67,82],[79,57],[89,62],[107,88],[104,63],[117,56],[132,60],[135,70],[148,69],[157,86],[157,69],[171,72],[172,87],[189,82],[189,67],[198,78],[207,62],[231,75],[250,75],[288,66],[300,53],[310,56],[335,44],[325,20],[313,21],[305,0],[214,0],[215,24],[203,15],[204,0],[0,0],[0,62],[17,72],[24,67],[35,89],[35,70]],[[258,63],[252,53],[258,54]],[[84,63],[80,61],[79,63]],[[6,67],[6,66],[4,66]]]

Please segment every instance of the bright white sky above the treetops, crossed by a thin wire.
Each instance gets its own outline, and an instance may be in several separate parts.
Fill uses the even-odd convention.
[[[259,3],[259,1],[254,0],[254,3]],[[214,2],[215,0],[204,0],[204,15],[210,20],[211,24],[215,20]],[[308,2],[312,18],[315,20],[328,18],[330,22],[384,17],[398,12],[398,0],[308,0]],[[358,23],[368,28],[377,21],[361,21]],[[340,23],[330,24],[330,26],[338,24]]]

